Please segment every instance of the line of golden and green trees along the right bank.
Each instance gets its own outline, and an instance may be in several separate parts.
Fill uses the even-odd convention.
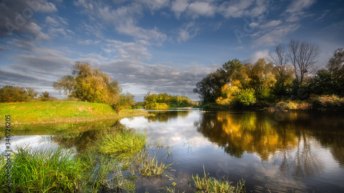
[[[311,73],[319,57],[318,45],[290,41],[277,45],[269,58],[242,64],[229,60],[197,82],[194,93],[204,104],[248,106],[257,101],[307,99],[310,94],[344,95],[344,49],[336,49],[323,69]]]

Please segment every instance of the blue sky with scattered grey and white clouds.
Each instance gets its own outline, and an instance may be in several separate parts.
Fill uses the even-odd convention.
[[[315,69],[344,47],[344,1],[0,0],[0,87],[64,98],[52,83],[85,62],[142,101],[186,95],[238,58],[255,63],[292,39],[319,45]]]

